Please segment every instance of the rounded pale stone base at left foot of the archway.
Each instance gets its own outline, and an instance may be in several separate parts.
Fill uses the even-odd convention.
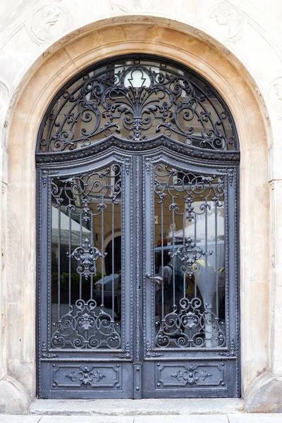
[[[26,415],[30,406],[23,385],[10,376],[0,380],[0,413]]]

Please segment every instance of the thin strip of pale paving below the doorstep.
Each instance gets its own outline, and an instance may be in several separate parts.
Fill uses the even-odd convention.
[[[173,416],[11,416],[0,423],[282,423],[281,414],[173,415]]]

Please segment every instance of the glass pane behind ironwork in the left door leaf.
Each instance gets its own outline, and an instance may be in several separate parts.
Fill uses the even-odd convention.
[[[54,178],[51,346],[121,346],[121,166]]]

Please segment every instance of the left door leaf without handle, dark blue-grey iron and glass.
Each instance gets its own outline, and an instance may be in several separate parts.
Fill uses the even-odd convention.
[[[109,157],[40,172],[41,398],[132,397],[131,171]]]

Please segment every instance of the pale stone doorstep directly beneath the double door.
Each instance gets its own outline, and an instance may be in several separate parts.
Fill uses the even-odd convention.
[[[226,415],[243,411],[240,398],[35,400],[30,406],[32,415]]]

